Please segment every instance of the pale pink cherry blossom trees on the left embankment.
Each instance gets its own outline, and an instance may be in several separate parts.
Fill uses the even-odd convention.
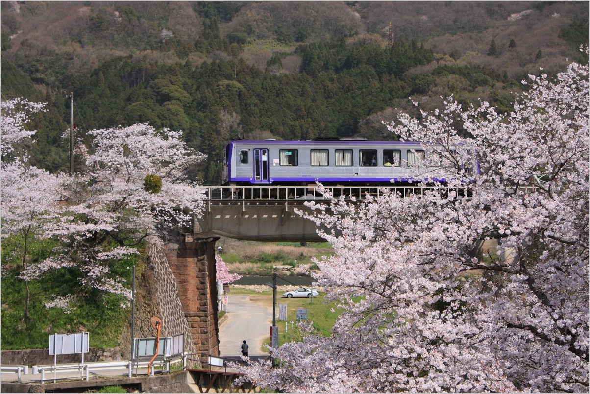
[[[2,136],[3,161],[5,142],[33,134],[24,132],[23,111],[11,103],[4,111],[4,105],[3,133],[11,125],[11,138]],[[142,242],[157,244],[183,231],[202,206],[203,189],[191,182],[188,170],[204,155],[188,149],[180,132],[136,124],[90,135],[91,149],[78,143],[84,166],[73,176],[54,176],[22,160],[2,166],[3,236],[37,229],[37,237],[58,241],[53,255],[35,264],[25,263],[25,242],[20,277],[27,283],[62,270],[75,281],[70,294],[55,294],[47,307],[67,310],[80,294],[114,294],[124,304],[130,289],[121,273],[128,259],[139,254]]]

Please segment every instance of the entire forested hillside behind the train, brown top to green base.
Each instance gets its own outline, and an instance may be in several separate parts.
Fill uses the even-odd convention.
[[[49,103],[32,163],[67,169],[72,92],[78,138],[182,130],[205,184],[230,138],[395,139],[381,121],[410,96],[510,111],[588,44],[588,2],[2,2],[1,21],[2,100]]]

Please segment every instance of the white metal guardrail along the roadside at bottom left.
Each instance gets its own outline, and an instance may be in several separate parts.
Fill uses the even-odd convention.
[[[162,372],[169,373],[170,366],[182,362],[182,369],[186,369],[186,355],[179,355],[166,359],[156,359],[153,366],[162,367]],[[149,360],[142,360],[137,362],[132,361],[109,361],[109,362],[89,362],[89,363],[70,363],[70,364],[56,364],[56,365],[34,365],[32,366],[31,375],[41,374],[41,383],[47,380],[57,380],[57,375],[62,375],[60,379],[74,379],[79,377],[81,380],[89,380],[90,373],[106,370],[126,370],[127,376],[133,376],[133,368],[147,368]],[[22,383],[22,375],[28,375],[28,366],[1,366],[1,372],[17,373],[18,383]],[[53,377],[47,377],[47,374],[53,374]],[[80,373],[79,376],[71,376],[72,374]],[[153,376],[154,369],[152,368],[151,375]],[[64,376],[69,374],[70,376]],[[29,379],[31,380],[31,379]]]

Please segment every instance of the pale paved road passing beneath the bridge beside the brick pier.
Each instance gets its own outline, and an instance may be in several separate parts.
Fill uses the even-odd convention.
[[[270,337],[273,310],[250,301],[248,294],[229,294],[227,320],[219,327],[219,353],[221,357],[239,356],[242,340],[246,340],[250,356],[266,355],[262,343]]]

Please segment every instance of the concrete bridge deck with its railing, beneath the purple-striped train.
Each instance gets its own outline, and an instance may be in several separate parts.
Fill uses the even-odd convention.
[[[327,188],[333,196],[362,201],[366,196],[379,197],[388,190],[424,195],[431,186],[338,186]],[[466,188],[443,189],[445,193],[466,195]],[[306,202],[327,202],[316,188],[303,186],[209,186],[205,212],[195,217],[194,237],[229,237],[249,241],[308,241],[323,239],[314,222],[294,209],[310,212]]]

